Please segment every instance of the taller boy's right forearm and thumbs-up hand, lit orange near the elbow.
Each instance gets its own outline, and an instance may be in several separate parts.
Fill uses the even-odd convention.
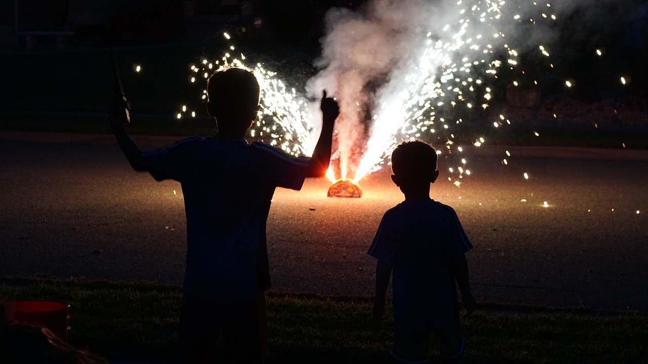
[[[330,97],[327,98],[326,91],[323,91],[320,109],[322,111],[322,131],[310,159],[306,177],[323,177],[329,169],[333,125],[335,119],[338,119],[340,108],[338,102]]]

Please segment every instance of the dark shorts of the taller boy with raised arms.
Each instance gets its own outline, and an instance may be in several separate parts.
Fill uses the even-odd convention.
[[[268,356],[266,315],[265,293],[240,302],[214,302],[185,293],[178,332],[183,359],[213,361],[220,334],[226,359],[263,363]]]

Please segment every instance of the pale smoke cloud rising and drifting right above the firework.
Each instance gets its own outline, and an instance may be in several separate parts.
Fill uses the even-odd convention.
[[[316,61],[321,71],[308,82],[307,93],[310,97],[319,97],[321,90],[326,89],[340,102],[337,141],[341,170],[353,172],[359,162],[358,154],[366,154],[369,148],[388,152],[389,146],[381,145],[385,141],[372,141],[371,138],[382,133],[382,139],[393,139],[399,126],[408,121],[399,120],[408,116],[403,108],[410,101],[402,91],[411,87],[411,82],[406,80],[408,76],[428,72],[417,67],[422,67],[421,57],[430,40],[462,43],[447,48],[454,50],[448,52],[454,52],[454,61],[450,62],[456,63],[467,58],[469,62],[490,62],[494,55],[483,56],[480,52],[496,50],[505,54],[511,47],[520,53],[540,52],[538,45],[583,41],[579,39],[578,27],[583,30],[582,34],[595,30],[603,20],[601,12],[613,2],[559,0],[548,6],[546,2],[527,0],[371,0],[357,12],[345,8],[330,10],[326,19],[327,35],[321,40],[323,53]],[[593,3],[596,9],[592,9]],[[624,9],[619,5],[619,12]],[[581,14],[586,11],[591,12],[592,17]],[[467,16],[470,12],[474,13],[472,17]],[[581,14],[579,19],[583,21],[575,25],[575,34],[560,34],[560,27],[542,21],[552,15],[564,19],[572,14]],[[466,19],[471,21],[470,34],[463,34]],[[533,28],[520,27],[520,24],[533,25]],[[479,47],[479,52],[469,48],[470,41],[474,44],[476,40],[483,40],[484,46]],[[454,67],[450,63],[446,66]],[[439,80],[434,64],[429,72],[430,78]],[[378,132],[376,123],[391,126]]]

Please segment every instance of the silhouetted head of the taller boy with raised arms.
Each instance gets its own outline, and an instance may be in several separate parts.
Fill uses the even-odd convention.
[[[223,128],[225,123],[247,123],[257,119],[259,82],[248,69],[230,67],[214,72],[207,79],[207,111]]]

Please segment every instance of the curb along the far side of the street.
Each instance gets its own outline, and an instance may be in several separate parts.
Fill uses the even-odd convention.
[[[173,144],[187,136],[133,135],[138,144],[147,148],[159,148]],[[112,134],[53,133],[46,131],[0,131],[0,141],[89,143],[96,145],[117,144]],[[568,146],[470,146],[470,154],[481,157],[504,157],[507,151],[516,157],[561,157],[579,159],[616,159],[648,161],[648,150],[581,148]]]

